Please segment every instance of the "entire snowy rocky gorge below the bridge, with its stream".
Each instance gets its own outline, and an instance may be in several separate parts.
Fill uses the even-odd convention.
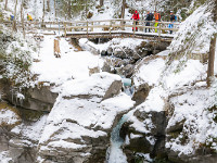
[[[171,43],[61,37],[56,59],[54,36],[37,51],[0,33],[0,162],[216,163],[208,4]]]

